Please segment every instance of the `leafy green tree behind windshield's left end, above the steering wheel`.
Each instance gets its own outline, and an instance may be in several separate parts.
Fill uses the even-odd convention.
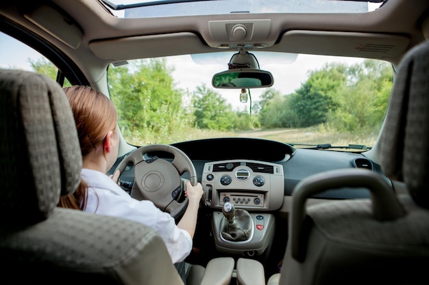
[[[162,143],[190,125],[165,59],[140,59],[130,66],[109,68],[110,94],[117,106],[121,131],[134,144]]]

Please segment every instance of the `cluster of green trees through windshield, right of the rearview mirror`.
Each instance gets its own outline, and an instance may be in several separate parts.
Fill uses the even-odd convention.
[[[258,103],[259,121],[263,128],[317,124],[350,132],[380,128],[392,83],[392,68],[384,62],[326,64],[311,71],[293,94],[266,90]]]

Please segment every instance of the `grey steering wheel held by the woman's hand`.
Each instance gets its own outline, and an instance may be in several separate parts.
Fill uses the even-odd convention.
[[[174,159],[170,163],[164,159],[154,157],[145,160],[148,152],[162,151],[173,154]],[[134,165],[134,189],[141,193],[141,198],[151,200],[161,209],[169,213],[174,219],[181,217],[188,206],[188,198],[178,202],[180,195],[186,189],[186,180],[181,176],[189,173],[191,185],[197,185],[197,172],[189,157],[182,150],[167,144],[151,144],[137,148],[130,152],[116,170],[122,174],[127,165]]]

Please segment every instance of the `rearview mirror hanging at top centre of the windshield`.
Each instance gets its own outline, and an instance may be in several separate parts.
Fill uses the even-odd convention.
[[[271,87],[274,83],[271,72],[255,68],[234,68],[215,74],[212,86],[224,89],[247,89]]]

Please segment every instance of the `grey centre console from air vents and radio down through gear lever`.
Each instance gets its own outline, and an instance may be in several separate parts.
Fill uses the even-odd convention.
[[[217,250],[250,258],[267,252],[275,234],[274,216],[268,212],[278,210],[284,197],[282,165],[210,162],[204,165],[201,185],[206,206],[219,209],[212,214]]]

